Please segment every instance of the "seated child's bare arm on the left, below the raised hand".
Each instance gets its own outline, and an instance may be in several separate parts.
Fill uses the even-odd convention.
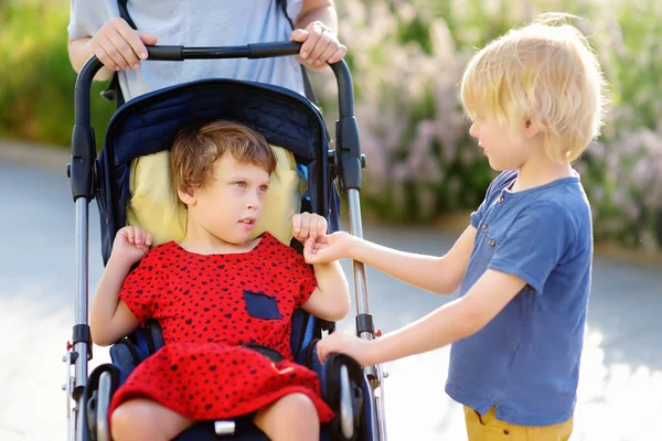
[[[102,276],[89,314],[92,340],[99,346],[110,345],[138,327],[138,319],[118,297],[130,269],[130,262],[111,257]]]

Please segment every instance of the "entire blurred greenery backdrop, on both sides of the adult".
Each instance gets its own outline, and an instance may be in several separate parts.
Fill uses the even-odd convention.
[[[599,141],[578,161],[595,233],[662,249],[662,3],[655,0],[337,0],[367,155],[365,212],[429,223],[474,208],[494,173],[458,99],[467,60],[537,13],[564,11],[589,36],[610,84]],[[0,3],[0,137],[66,146],[75,75],[66,54],[68,2]],[[28,31],[30,30],[30,31]],[[316,75],[329,126],[330,73]],[[105,84],[95,85],[95,94]],[[114,106],[96,99],[100,146]]]

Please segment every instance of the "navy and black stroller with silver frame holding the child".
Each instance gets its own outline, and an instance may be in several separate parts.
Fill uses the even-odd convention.
[[[150,61],[195,58],[271,57],[295,55],[300,43],[260,43],[228,47],[151,46]],[[339,121],[335,149],[319,109],[305,97],[282,87],[234,79],[204,79],[168,87],[135,98],[114,115],[97,160],[90,126],[90,85],[102,63],[93,56],[78,74],[75,86],[75,122],[72,162],[67,173],[76,206],[76,301],[73,338],[63,357],[66,364],[70,440],[110,440],[108,408],[113,392],[131,369],[163,345],[161,330],[149,322],[110,348],[111,364],[88,375],[92,337],[88,318],[88,205],[96,197],[102,223],[103,257],[110,256],[114,237],[127,225],[131,194],[131,162],[167,150],[177,132],[189,125],[217,119],[246,125],[267,142],[288,150],[308,174],[308,194],[301,209],[324,216],[338,229],[340,196],[335,182],[349,201],[350,232],[361,237],[361,169],[365,166],[354,117],[352,78],[344,61],[331,65],[338,80]],[[354,262],[356,334],[372,340],[375,327],[367,309],[363,263]],[[350,357],[333,354],[324,365],[317,358],[316,343],[334,324],[298,310],[292,316],[291,348],[295,361],[320,377],[322,397],[335,412],[322,424],[322,440],[386,440],[383,373],[380,365],[361,368]],[[247,418],[201,421],[177,440],[265,440]]]

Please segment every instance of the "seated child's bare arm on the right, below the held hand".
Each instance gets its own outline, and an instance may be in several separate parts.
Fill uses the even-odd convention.
[[[350,289],[340,263],[318,263],[313,268],[318,287],[301,309],[330,322],[344,319],[350,312]]]

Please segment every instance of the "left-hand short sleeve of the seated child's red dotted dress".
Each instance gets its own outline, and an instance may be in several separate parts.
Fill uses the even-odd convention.
[[[156,252],[146,254],[131,271],[119,291],[119,298],[129,306],[140,323],[159,313],[158,299],[166,284],[166,272],[158,267]]]

